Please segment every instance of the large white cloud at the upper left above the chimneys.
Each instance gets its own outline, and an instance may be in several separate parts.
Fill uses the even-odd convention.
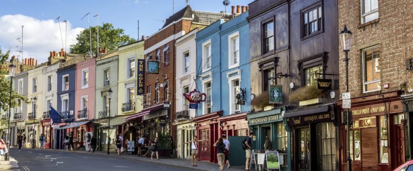
[[[22,36],[23,29],[23,58],[33,57],[39,63],[46,62],[49,51],[60,51],[62,48],[59,23],[56,20],[38,20],[24,15],[4,15],[0,17],[0,46],[4,51],[11,49],[11,55],[19,55],[16,46],[17,38]],[[65,43],[65,23],[60,22],[63,44]],[[84,28],[72,28],[67,22],[67,51],[76,43],[76,35]]]

